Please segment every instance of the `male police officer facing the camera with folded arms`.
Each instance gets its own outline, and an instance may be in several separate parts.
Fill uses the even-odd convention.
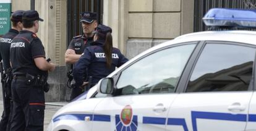
[[[82,22],[83,35],[75,36],[70,41],[69,48],[65,53],[65,62],[67,64],[75,64],[79,60],[83,50],[91,46],[93,42],[93,31],[98,26],[96,14],[93,12],[83,12],[80,22]],[[81,93],[83,93],[82,88],[73,88],[71,99],[76,98]]]

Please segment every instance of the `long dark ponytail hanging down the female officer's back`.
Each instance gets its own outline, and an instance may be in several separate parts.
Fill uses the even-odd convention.
[[[112,64],[112,51],[113,51],[113,40],[110,32],[106,34],[105,44],[103,50],[106,56],[106,65],[110,69]]]

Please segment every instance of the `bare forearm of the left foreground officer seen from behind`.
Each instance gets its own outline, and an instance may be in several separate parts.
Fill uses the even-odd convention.
[[[45,57],[36,57],[34,58],[36,67],[40,70],[44,71],[53,71],[55,69],[55,65],[53,63],[49,63],[46,61]]]

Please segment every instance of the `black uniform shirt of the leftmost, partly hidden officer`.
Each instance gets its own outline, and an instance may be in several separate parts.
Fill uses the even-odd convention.
[[[10,46],[12,39],[18,35],[19,32],[14,29],[10,29],[0,40],[0,54],[2,61],[4,62],[4,70],[10,68]]]

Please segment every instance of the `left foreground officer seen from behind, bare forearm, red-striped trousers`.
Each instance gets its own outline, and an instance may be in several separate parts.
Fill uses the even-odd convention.
[[[45,74],[55,69],[45,59],[45,49],[35,33],[39,29],[37,11],[25,11],[22,15],[23,30],[11,43],[10,59],[14,78],[14,101],[11,130],[43,130],[45,114]]]

